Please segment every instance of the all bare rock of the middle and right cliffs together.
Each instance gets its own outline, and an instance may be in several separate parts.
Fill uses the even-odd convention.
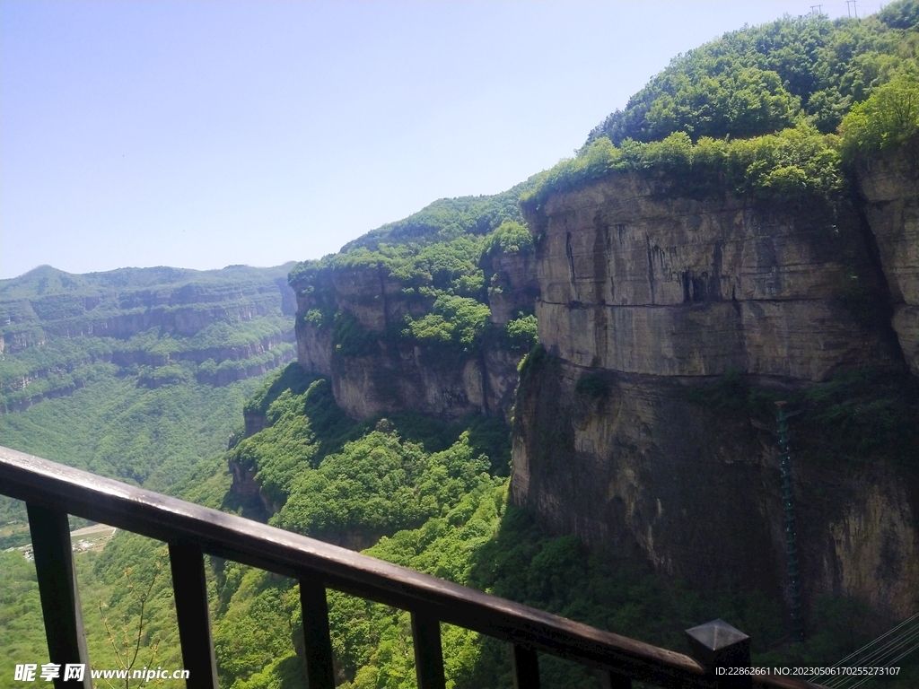
[[[495,326],[538,316],[543,349],[520,378],[520,353],[495,342],[442,356],[400,339],[433,297],[385,265],[292,281],[299,361],[331,378],[354,418],[513,416],[513,499],[556,532],[703,590],[787,596],[771,401],[845,397],[834,381],[859,371],[881,387],[916,371],[915,171],[894,157],[858,182],[863,198],[834,206],[703,197],[652,174],[550,196],[526,211],[536,253],[484,265]],[[732,376],[754,392],[709,403]],[[757,394],[766,407],[751,406]],[[857,405],[887,402],[868,398],[841,403],[847,421],[814,421],[821,407],[793,426],[804,594],[809,606],[855,595],[902,617],[919,606],[915,462],[823,437],[852,419],[856,435],[877,432]]]

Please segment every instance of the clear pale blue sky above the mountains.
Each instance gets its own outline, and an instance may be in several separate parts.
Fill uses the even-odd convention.
[[[318,258],[514,186],[677,53],[813,2],[2,0],[0,277]]]

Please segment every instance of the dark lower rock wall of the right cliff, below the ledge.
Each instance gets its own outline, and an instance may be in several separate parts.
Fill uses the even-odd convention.
[[[775,436],[684,401],[685,380],[584,369],[546,356],[521,383],[513,499],[557,533],[648,559],[702,590],[787,586]],[[795,438],[796,443],[800,438]],[[800,445],[796,446],[796,450]],[[919,592],[919,482],[892,469],[793,463],[806,601],[857,595],[897,618]]]

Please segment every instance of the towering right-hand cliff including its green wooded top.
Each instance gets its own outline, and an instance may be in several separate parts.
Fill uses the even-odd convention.
[[[915,612],[917,21],[919,7],[900,3],[862,24],[802,19],[728,36],[675,61],[543,175],[523,201],[544,349],[520,384],[516,503],[700,589],[790,604],[800,571],[806,618],[825,593],[891,620]],[[692,82],[712,55],[783,60],[734,48],[816,28],[827,45],[870,34],[888,55],[841,136],[812,117],[747,140],[694,141],[732,133],[730,122],[659,141],[616,133],[672,105],[664,85]],[[872,51],[843,72],[879,60]],[[686,110],[686,122],[709,126],[705,112]],[[775,401],[800,414],[797,538],[784,527]]]

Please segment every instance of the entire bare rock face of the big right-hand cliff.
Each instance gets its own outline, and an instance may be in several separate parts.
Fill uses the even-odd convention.
[[[838,370],[905,370],[870,231],[884,219],[893,327],[914,353],[916,193],[901,168],[881,170],[863,180],[869,227],[855,210],[752,209],[627,175],[532,212],[546,353],[520,383],[516,503],[703,589],[784,590],[772,424],[687,391],[731,369],[789,393]],[[805,450],[793,483],[807,604],[832,592],[915,612],[915,468],[830,466]]]

